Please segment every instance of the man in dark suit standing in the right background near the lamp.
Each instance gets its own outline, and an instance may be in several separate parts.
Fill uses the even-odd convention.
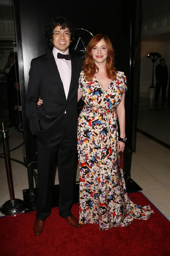
[[[167,65],[165,65],[165,59],[161,58],[160,64],[156,65],[155,101],[159,99],[159,93],[161,90],[161,102],[163,104],[166,101],[167,79],[168,79]]]

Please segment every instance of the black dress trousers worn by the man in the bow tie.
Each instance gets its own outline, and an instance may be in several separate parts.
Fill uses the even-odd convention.
[[[65,114],[66,116],[66,114]],[[74,190],[74,172],[76,169],[77,143],[71,143],[68,136],[67,119],[48,145],[42,145],[37,139],[37,214],[36,218],[45,220],[51,213],[52,191],[54,185],[54,165],[57,159],[59,175],[59,215],[71,215]]]

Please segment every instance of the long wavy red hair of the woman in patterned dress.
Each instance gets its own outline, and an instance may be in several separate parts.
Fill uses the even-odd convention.
[[[108,38],[107,35],[98,34],[91,38],[91,41],[88,43],[85,54],[86,58],[83,61],[83,70],[87,81],[91,81],[93,79],[96,70],[99,71],[99,68],[94,62],[91,51],[102,39],[104,39],[106,47],[108,49],[108,57],[106,59],[105,65],[107,77],[108,79],[113,80],[116,78],[116,68],[114,67],[114,50],[111,44],[111,40]]]

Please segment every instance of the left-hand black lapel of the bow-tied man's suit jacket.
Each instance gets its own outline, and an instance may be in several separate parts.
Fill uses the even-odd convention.
[[[64,94],[63,96],[65,97],[64,86],[62,84],[62,80],[59,75],[59,70],[57,68],[57,64],[52,51],[47,55],[47,58],[48,58],[48,66],[49,66],[49,69],[51,70],[51,76],[53,76],[54,79],[56,79],[56,83],[58,84],[61,90],[61,93]]]

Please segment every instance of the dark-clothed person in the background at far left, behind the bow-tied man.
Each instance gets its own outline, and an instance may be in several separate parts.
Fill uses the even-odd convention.
[[[11,122],[8,125],[8,128],[15,126],[16,116],[18,115],[17,110],[14,110],[14,106],[20,105],[20,93],[17,93],[15,83],[19,81],[19,72],[18,72],[18,61],[17,56],[14,56],[14,53],[10,53],[8,56],[8,63],[12,66],[7,74],[7,97],[8,97],[8,111],[9,111],[9,121]]]

